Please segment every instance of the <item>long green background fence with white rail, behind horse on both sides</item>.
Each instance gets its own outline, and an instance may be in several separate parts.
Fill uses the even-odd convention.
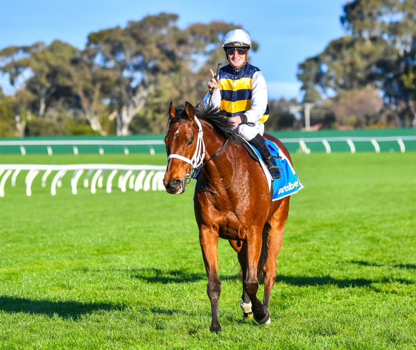
[[[408,152],[416,150],[416,129],[269,132],[289,152]],[[164,153],[164,135],[131,137],[42,137],[0,139],[3,154]]]

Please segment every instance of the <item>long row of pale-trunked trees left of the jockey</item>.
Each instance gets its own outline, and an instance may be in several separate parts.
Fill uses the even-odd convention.
[[[0,50],[20,134],[39,134],[47,122],[36,118],[62,128],[73,124],[69,119],[81,126],[86,120],[102,134],[114,124],[117,134],[128,134],[136,117],[130,131],[164,132],[168,102],[202,100],[209,68],[224,61],[221,38],[241,28],[212,21],[180,29],[177,18],[160,13],[90,33],[84,50],[59,40]]]

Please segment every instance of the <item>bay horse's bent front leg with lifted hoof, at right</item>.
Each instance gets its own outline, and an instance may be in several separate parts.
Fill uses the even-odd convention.
[[[263,307],[257,298],[259,280],[257,279],[257,266],[259,265],[261,254],[262,236],[260,232],[252,232],[247,240],[247,273],[243,281],[244,292],[250,297],[254,320],[259,323],[266,323],[270,318],[268,308]]]

